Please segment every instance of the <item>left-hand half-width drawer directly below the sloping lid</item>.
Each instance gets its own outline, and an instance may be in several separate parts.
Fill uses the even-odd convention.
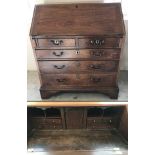
[[[75,39],[38,39],[38,47],[75,47]]]

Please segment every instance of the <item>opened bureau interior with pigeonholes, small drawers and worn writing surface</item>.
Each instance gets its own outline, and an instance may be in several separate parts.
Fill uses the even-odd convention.
[[[126,106],[28,108],[28,150],[127,150]]]

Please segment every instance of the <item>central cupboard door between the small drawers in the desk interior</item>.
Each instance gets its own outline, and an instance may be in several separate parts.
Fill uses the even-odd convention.
[[[84,128],[84,108],[66,108],[65,115],[67,129]]]

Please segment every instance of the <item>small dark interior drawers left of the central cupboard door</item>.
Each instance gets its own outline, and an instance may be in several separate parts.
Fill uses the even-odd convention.
[[[62,129],[61,119],[55,118],[32,118],[32,124],[35,129]]]

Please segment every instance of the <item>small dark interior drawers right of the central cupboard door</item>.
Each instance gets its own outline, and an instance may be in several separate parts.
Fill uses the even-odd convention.
[[[91,117],[87,118],[87,128],[106,129],[116,127],[117,119],[113,117]]]

